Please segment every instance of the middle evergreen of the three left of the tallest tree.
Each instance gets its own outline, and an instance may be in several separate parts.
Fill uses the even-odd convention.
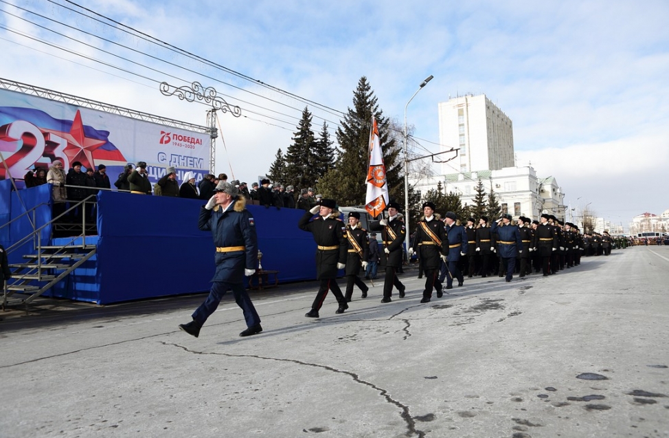
[[[284,185],[295,186],[299,189],[313,187],[318,177],[316,174],[315,151],[317,142],[311,130],[312,115],[307,107],[302,111],[302,119],[297,124],[297,131],[293,135],[293,144],[286,151],[286,172]]]

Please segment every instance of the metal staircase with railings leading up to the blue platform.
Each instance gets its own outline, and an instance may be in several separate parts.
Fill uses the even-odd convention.
[[[20,250],[25,247],[26,243],[32,241],[32,251],[29,254],[22,255],[25,261],[23,263],[10,263],[9,265],[10,270],[12,270],[12,278],[6,281],[3,287],[3,310],[8,306],[14,307],[23,304],[27,311],[27,306],[33,300],[47,292],[95,254],[97,246],[86,243],[87,231],[91,232],[91,224],[86,223],[85,215],[82,217],[82,223],[69,224],[69,230],[77,231],[78,234],[73,236],[70,233],[69,241],[66,241],[63,245],[42,245],[41,239],[41,232],[44,228],[52,226],[53,233],[54,230],[57,230],[57,221],[66,217],[65,215],[68,212],[78,207],[83,208],[84,204],[91,203],[93,196],[91,195],[91,197],[78,204],[72,205],[68,210],[43,226],[39,228],[33,226],[34,230],[30,234],[14,243],[10,248],[6,248],[8,254],[11,254],[11,252]],[[40,206],[23,213],[23,215],[30,215],[32,212],[32,224],[36,223],[35,212],[38,207]],[[12,221],[23,217],[23,215],[14,218]],[[8,226],[10,223],[3,226]],[[89,241],[91,241],[90,238]],[[13,299],[15,295],[18,299]]]

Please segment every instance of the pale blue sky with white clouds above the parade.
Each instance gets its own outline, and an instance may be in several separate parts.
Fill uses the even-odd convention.
[[[71,6],[65,0],[54,1]],[[304,102],[94,24],[49,1],[16,4],[214,80],[129,52],[123,53],[159,72],[96,53],[9,16],[5,12],[56,28],[5,3],[0,3],[5,11],[0,23],[152,79],[179,85],[183,83],[168,75],[185,83],[199,80],[231,96],[231,102],[242,99],[264,107],[240,104],[242,111],[247,108],[287,122],[251,112],[243,119],[223,116],[227,153],[219,142],[216,171],[228,172],[231,163],[236,177],[253,180],[267,171],[278,148],[285,151],[291,144]],[[456,94],[484,93],[513,120],[517,164],[531,162],[540,176],[556,177],[567,203],[578,207],[591,202],[598,215],[624,224],[642,212],[659,215],[669,209],[664,176],[669,167],[666,1],[93,0],[85,4],[162,41],[339,111],[352,105],[357,81],[367,76],[381,109],[399,124],[407,100],[432,74],[434,79],[413,99],[407,115],[425,149],[439,151],[438,102]],[[66,33],[118,52],[92,36]],[[166,98],[150,80],[49,49],[7,30],[0,29],[0,38],[6,54],[2,77],[205,124],[204,107]],[[331,127],[340,119],[316,108],[313,112],[316,130],[322,123],[319,117],[330,120]]]

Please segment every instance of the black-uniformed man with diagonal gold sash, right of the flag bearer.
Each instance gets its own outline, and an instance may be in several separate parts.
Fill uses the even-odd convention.
[[[435,215],[435,205],[432,202],[425,202],[422,208],[423,217],[416,224],[409,257],[414,253],[418,255],[418,263],[425,276],[425,288],[420,302],[429,303],[432,289],[437,291],[437,298],[441,298],[443,294],[439,267],[442,259],[446,259],[446,254],[449,253],[449,239],[446,237],[444,223]]]

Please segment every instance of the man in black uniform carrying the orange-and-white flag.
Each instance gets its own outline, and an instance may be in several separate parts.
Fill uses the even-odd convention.
[[[381,231],[383,251],[379,253],[381,265],[385,266],[385,278],[383,281],[383,299],[381,303],[390,303],[392,301],[393,287],[400,292],[400,298],[405,296],[405,285],[402,284],[397,276],[397,272],[402,267],[404,251],[402,243],[407,237],[407,230],[404,222],[398,219],[400,204],[392,201],[387,206],[388,219],[372,221],[370,230]]]

